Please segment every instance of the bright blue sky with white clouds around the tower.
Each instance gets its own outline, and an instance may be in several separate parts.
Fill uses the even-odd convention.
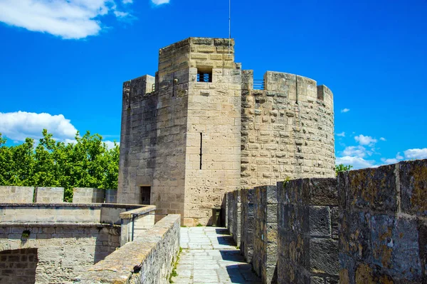
[[[232,0],[236,62],[334,92],[337,163],[427,158],[427,1]],[[0,132],[120,141],[122,82],[159,48],[228,37],[228,0],[0,0]]]

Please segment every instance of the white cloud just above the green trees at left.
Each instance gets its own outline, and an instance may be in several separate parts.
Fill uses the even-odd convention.
[[[62,114],[36,114],[33,112],[0,112],[0,133],[14,141],[24,141],[25,138],[41,138],[41,131],[47,129],[54,137],[70,139],[75,136],[77,129],[65,119]]]

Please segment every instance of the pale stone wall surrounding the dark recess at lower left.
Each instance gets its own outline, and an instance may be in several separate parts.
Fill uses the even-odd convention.
[[[37,249],[36,283],[70,283],[119,246],[120,226],[0,223],[0,251]]]

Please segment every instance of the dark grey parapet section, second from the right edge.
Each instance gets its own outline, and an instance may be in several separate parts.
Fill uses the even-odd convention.
[[[278,182],[278,283],[338,283],[335,178]]]

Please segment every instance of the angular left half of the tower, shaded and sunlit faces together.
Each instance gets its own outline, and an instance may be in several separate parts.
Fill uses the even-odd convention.
[[[124,83],[117,202],[149,200],[195,226],[208,224],[224,193],[240,187],[241,65],[233,45],[182,40],[159,50],[155,78]]]

